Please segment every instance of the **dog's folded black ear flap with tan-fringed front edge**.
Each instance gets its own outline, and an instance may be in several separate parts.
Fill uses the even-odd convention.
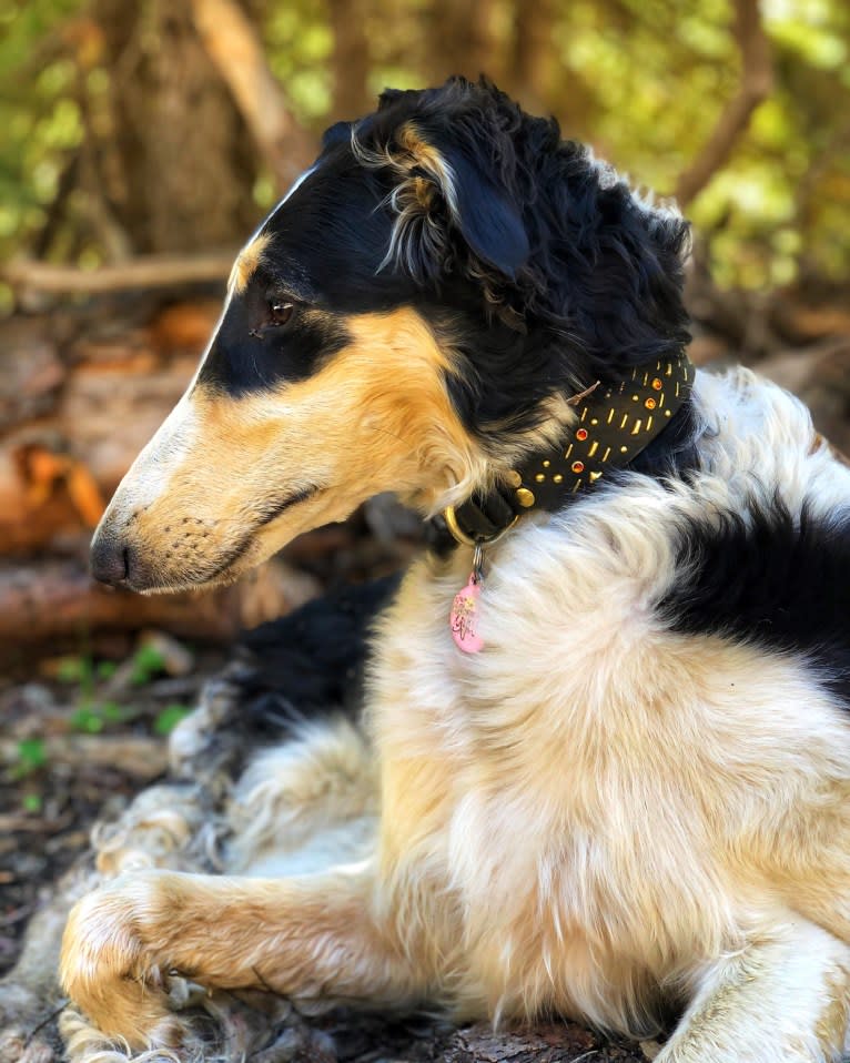
[[[423,221],[435,226],[441,224],[439,201],[451,226],[473,254],[490,270],[515,280],[528,259],[528,235],[518,204],[490,175],[486,162],[447,138],[424,134],[413,123],[403,125],[397,139],[408,163],[405,186],[395,194],[396,204],[404,202],[408,214],[418,207]],[[432,246],[445,247],[448,234],[439,236],[443,239],[432,234]],[[432,265],[436,269],[441,263]]]

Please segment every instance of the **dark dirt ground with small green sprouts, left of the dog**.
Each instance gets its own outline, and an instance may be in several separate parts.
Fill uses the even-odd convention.
[[[152,650],[145,672],[141,647],[151,640],[140,640],[108,678],[85,672],[109,672],[112,662],[90,668],[68,654],[33,661],[30,678],[0,688],[0,974],[14,964],[42,895],[85,850],[93,823],[164,772],[170,725],[226,657],[158,638],[182,651],[180,665],[164,661],[182,675],[155,667]]]

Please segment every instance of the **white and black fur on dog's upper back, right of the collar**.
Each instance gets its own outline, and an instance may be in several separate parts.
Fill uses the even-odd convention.
[[[790,655],[850,702],[850,470],[782,388],[705,376],[705,473],[658,601],[672,630]]]

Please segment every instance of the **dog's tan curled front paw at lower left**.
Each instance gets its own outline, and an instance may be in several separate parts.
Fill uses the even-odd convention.
[[[142,871],[101,887],[73,908],[62,939],[64,991],[107,1036],[133,1049],[176,1046],[185,1035],[172,1011],[180,991],[169,961],[170,878]]]

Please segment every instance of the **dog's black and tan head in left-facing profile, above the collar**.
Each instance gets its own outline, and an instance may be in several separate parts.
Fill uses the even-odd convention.
[[[573,392],[681,346],[686,240],[489,84],[385,93],[237,257],[94,575],[209,585],[378,492],[433,513],[486,489],[558,436]]]

